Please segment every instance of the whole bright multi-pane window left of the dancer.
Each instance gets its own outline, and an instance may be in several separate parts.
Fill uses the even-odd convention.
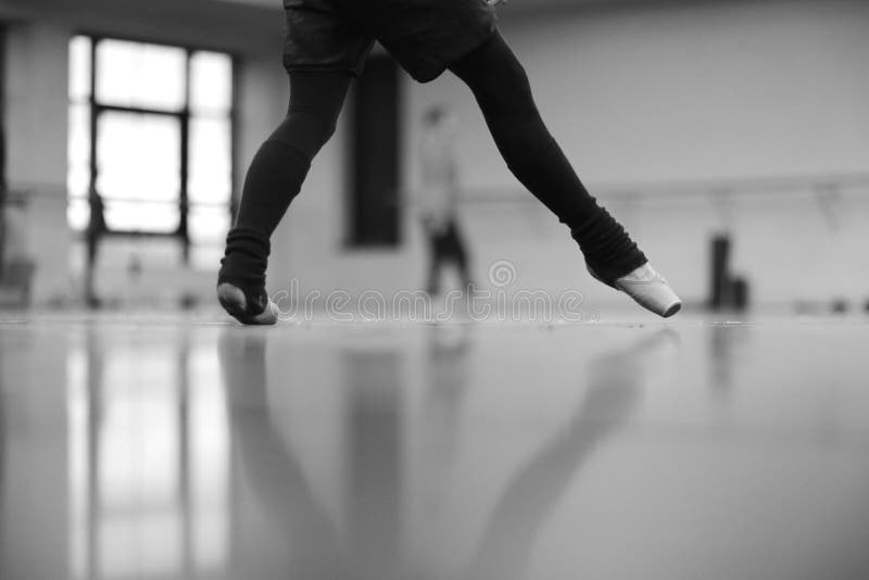
[[[186,262],[216,266],[231,220],[228,54],[74,37],[68,139],[73,229],[95,191],[109,235],[175,237]]]

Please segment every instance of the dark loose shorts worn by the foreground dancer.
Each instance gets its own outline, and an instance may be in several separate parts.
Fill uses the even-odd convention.
[[[416,80],[437,78],[492,34],[486,0],[284,0],[287,71],[358,75],[378,40]]]

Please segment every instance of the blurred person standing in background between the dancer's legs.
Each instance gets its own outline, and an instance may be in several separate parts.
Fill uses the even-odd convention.
[[[444,106],[432,106],[423,115],[419,141],[421,190],[419,217],[429,245],[426,290],[437,294],[443,266],[458,269],[462,286],[470,288],[468,256],[458,228],[458,165],[454,152],[455,119]]]

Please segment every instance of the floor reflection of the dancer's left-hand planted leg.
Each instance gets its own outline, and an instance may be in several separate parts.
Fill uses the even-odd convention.
[[[272,423],[266,400],[266,338],[265,333],[231,330],[221,337],[218,354],[235,455],[264,512],[286,535],[291,560],[282,576],[293,580],[345,578],[333,525]]]

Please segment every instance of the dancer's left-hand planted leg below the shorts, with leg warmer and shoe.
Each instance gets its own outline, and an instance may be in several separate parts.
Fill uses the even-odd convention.
[[[248,169],[217,277],[221,304],[241,323],[275,321],[265,292],[269,240],[299,194],[311,161],[335,133],[352,78],[344,72],[290,73],[289,112]]]

